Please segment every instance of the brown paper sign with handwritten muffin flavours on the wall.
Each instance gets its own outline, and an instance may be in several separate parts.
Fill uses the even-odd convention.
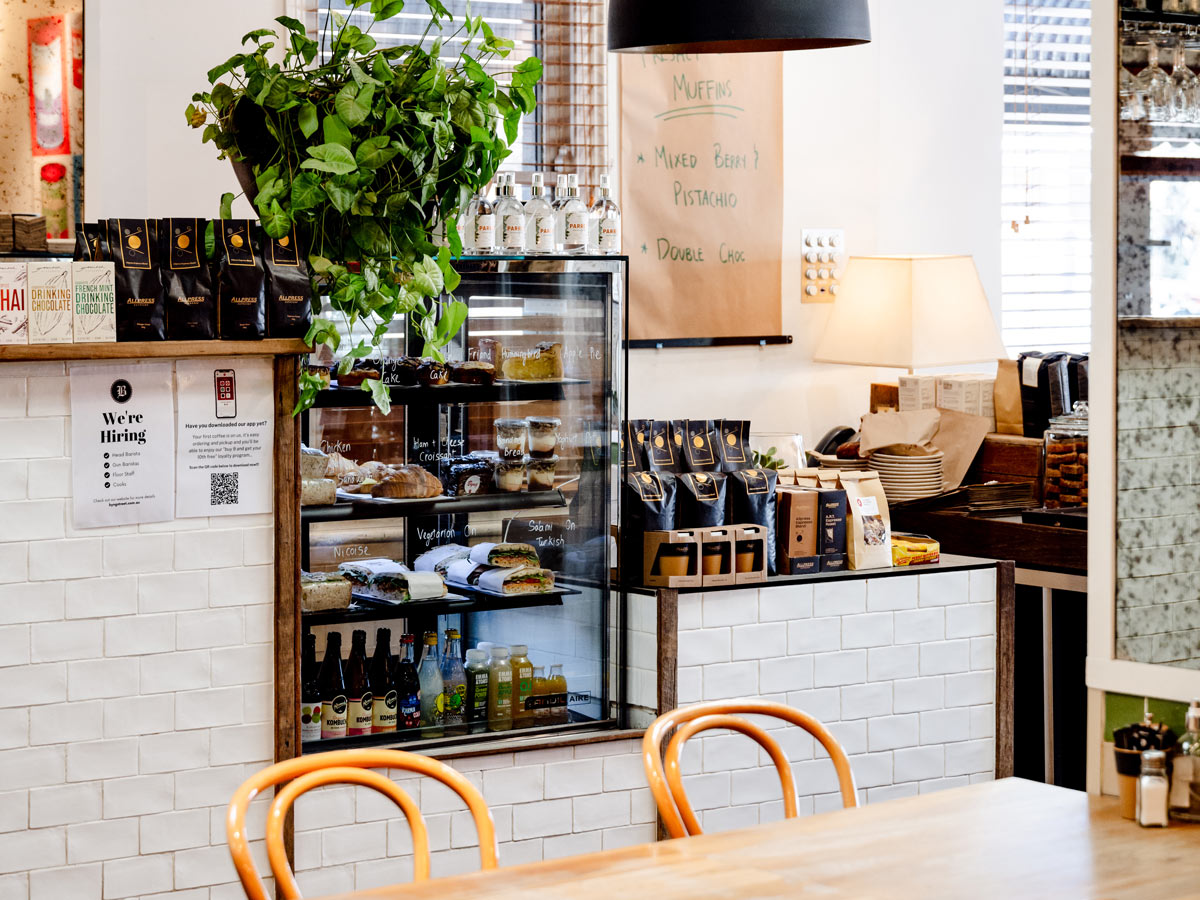
[[[623,55],[620,85],[630,338],[780,334],[780,55]]]

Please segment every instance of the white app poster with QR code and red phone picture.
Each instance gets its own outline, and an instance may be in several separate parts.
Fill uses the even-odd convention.
[[[180,360],[175,515],[270,512],[275,388],[270,360]]]

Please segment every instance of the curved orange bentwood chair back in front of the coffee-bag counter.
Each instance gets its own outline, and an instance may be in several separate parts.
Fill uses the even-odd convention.
[[[829,733],[829,730],[808,713],[766,700],[695,703],[664,713],[654,720],[642,738],[642,763],[646,766],[646,778],[650,782],[650,792],[659,806],[662,823],[672,838],[686,838],[702,833],[700,821],[696,818],[696,814],[688,802],[688,792],[684,790],[679,756],[689,738],[712,728],[737,731],[757,742],[770,756],[776,772],[779,772],[779,780],[784,788],[784,816],[796,818],[799,815],[796,802],[796,778],[792,775],[792,766],[787,761],[787,755],[762,727],[739,718],[743,715],[769,715],[782,719],[800,726],[820,740],[829,754],[829,758],[833,760],[834,770],[838,773],[841,805],[846,809],[858,805],[854,773],[850,769],[846,751],[841,749],[841,744]],[[674,736],[667,743],[666,755],[660,757],[662,742],[673,730]]]

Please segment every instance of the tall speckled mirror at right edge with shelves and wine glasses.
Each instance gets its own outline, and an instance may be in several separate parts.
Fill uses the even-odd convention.
[[[1200,17],[1121,13],[1114,655],[1200,668]]]

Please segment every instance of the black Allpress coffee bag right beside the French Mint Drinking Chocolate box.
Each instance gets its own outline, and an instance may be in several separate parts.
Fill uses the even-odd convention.
[[[167,305],[154,218],[109,218],[104,257],[115,264],[116,340],[167,340]]]

